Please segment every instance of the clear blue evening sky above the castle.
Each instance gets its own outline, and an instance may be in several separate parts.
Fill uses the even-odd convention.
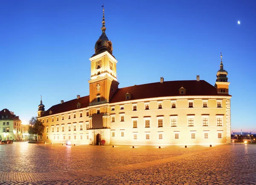
[[[222,51],[233,131],[256,133],[256,1],[108,0],[106,34],[119,61],[119,88],[169,80],[215,84]],[[89,94],[90,61],[101,35],[102,1],[0,1],[0,109],[23,122]],[[241,24],[238,25],[237,21]]]

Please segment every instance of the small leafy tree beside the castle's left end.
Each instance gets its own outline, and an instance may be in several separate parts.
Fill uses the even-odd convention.
[[[32,117],[29,121],[29,134],[35,135],[35,141],[37,141],[37,135],[42,136],[44,133],[44,124],[37,119],[37,117]]]

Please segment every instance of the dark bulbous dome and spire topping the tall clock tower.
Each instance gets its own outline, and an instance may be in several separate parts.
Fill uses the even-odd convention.
[[[110,54],[112,54],[112,51],[113,51],[112,43],[111,43],[110,40],[108,40],[108,37],[105,33],[107,28],[105,27],[104,10],[105,9],[103,7],[103,18],[102,18],[102,28],[101,28],[102,34],[95,43],[95,47],[94,47],[95,48],[95,54],[99,54],[99,53],[102,53],[104,51],[108,51]]]

